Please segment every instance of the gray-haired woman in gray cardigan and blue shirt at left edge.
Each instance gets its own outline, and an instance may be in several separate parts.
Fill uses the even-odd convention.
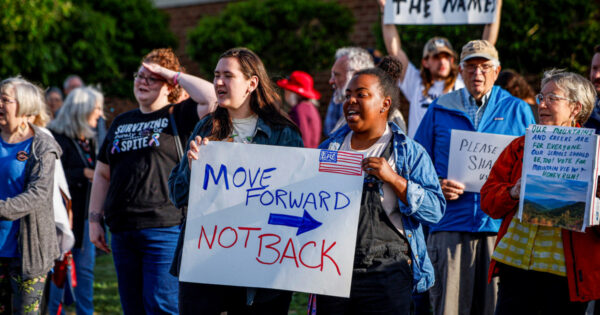
[[[37,314],[47,274],[60,255],[52,187],[61,150],[29,122],[48,120],[37,86],[9,78],[0,82],[0,93],[0,310]]]

